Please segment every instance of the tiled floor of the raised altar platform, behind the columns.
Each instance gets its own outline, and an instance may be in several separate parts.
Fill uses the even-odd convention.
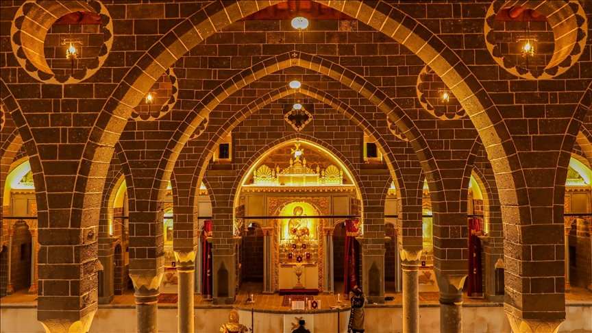
[[[337,289],[338,290],[338,289]],[[264,294],[262,292],[262,284],[260,283],[245,283],[243,287],[240,289],[240,293],[236,296],[236,301],[234,301],[234,307],[236,308],[248,308],[250,309],[251,306],[249,304],[245,304],[245,301],[249,297],[250,294],[254,295],[255,305],[254,309],[257,311],[271,311],[271,312],[282,312],[287,311],[287,306],[282,306],[282,300],[284,299],[283,296],[277,294]],[[384,305],[376,305],[378,307],[400,307],[402,306],[402,294],[400,293],[388,293],[390,296],[395,297],[392,301],[386,301]],[[331,306],[336,306],[337,303],[337,295],[318,295],[315,296],[314,299],[321,300],[321,307],[323,309],[328,309]],[[420,297],[419,304],[420,306],[437,306],[437,300],[422,300]],[[501,304],[491,303],[484,299],[480,298],[469,298],[466,295],[463,295],[464,304],[469,306],[501,306]],[[125,295],[116,295],[113,301],[108,305],[101,305],[100,307],[106,308],[130,308],[135,307],[135,297],[134,291],[127,291]],[[343,301],[343,295],[341,295],[341,305],[347,304],[347,302]],[[592,293],[587,291],[584,288],[579,287],[572,287],[571,293],[565,294],[565,303],[568,306],[582,306],[582,305],[592,305]],[[0,298],[0,307],[11,307],[11,308],[35,308],[37,306],[37,295],[29,295],[25,289],[22,291],[17,291],[14,295],[8,295],[6,297]],[[373,304],[369,306],[374,306]],[[159,307],[162,308],[176,308],[177,304],[159,304]],[[204,299],[201,295],[195,295],[195,307],[196,308],[210,308],[210,307],[229,307],[230,306],[214,306],[212,305],[212,301],[209,299]]]

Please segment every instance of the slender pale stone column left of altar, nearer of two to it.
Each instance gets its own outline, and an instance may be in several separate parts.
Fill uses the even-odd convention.
[[[193,286],[195,283],[195,251],[175,250],[177,278],[179,279],[178,330],[193,333]]]

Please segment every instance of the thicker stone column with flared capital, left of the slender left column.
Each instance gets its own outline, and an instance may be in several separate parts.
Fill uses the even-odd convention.
[[[153,275],[136,275],[130,273],[136,293],[136,332],[158,333],[158,288],[162,281],[164,269]]]

